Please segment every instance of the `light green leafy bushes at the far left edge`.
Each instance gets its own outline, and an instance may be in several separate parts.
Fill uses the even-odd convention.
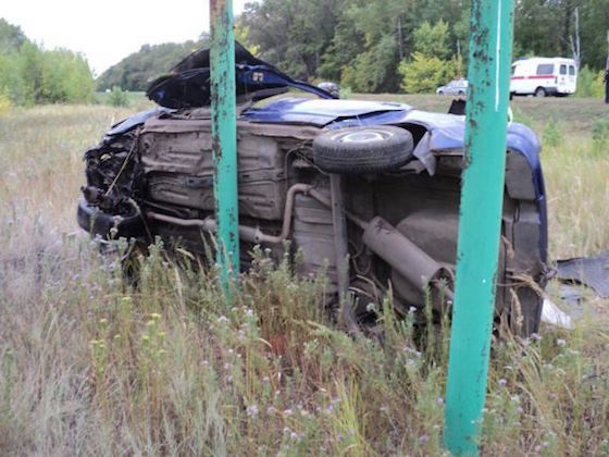
[[[44,50],[0,18],[0,104],[90,102],[95,87],[84,55]]]

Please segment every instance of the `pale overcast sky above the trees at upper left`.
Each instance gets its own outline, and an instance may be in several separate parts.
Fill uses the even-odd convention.
[[[235,14],[248,0],[233,0]],[[209,0],[0,0],[0,17],[45,49],[85,54],[96,75],[141,45],[183,42],[209,30]]]

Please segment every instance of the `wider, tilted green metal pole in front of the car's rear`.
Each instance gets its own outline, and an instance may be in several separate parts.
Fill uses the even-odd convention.
[[[477,455],[506,166],[513,0],[473,0],[457,280],[446,390],[445,444]]]

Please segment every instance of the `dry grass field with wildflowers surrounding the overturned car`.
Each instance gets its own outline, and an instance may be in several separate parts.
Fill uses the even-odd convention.
[[[607,249],[607,107],[512,108],[544,141],[551,258]],[[117,257],[76,226],[75,202],[83,152],[129,113],[0,118],[0,454],[440,455],[446,332],[415,344],[411,320],[385,312],[383,346],[352,339],[319,311],[319,282],[263,252],[233,309],[213,273],[177,268],[160,246],[141,287],[123,283]],[[575,330],[494,342],[483,455],[609,454],[608,304],[585,295]]]

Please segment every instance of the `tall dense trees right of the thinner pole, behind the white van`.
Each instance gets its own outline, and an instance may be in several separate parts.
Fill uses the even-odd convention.
[[[237,26],[259,57],[358,92],[428,91],[464,75],[471,0],[262,0]],[[572,57],[605,67],[609,0],[517,0],[514,58]]]

